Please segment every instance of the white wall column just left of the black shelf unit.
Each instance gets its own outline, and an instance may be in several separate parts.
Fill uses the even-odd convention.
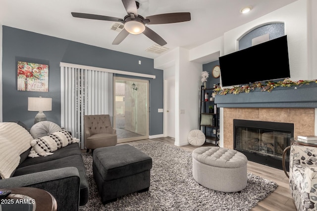
[[[164,79],[175,77],[174,144],[177,146],[186,145],[188,144],[188,133],[192,129],[198,128],[199,87],[203,65],[190,62],[189,50],[177,47],[156,58],[154,67],[164,70]],[[165,102],[164,105],[166,105]],[[164,110],[164,112],[166,111]],[[164,121],[166,121],[166,118],[164,118]],[[166,134],[165,131],[164,134]]]

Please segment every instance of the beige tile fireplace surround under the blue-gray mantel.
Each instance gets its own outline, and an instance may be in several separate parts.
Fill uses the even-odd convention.
[[[223,146],[230,149],[234,149],[234,136],[235,136],[234,126],[233,126],[234,120],[272,122],[273,125],[274,123],[286,123],[286,125],[291,124],[291,125],[294,125],[294,131],[292,131],[292,134],[291,134],[294,137],[297,137],[297,135],[300,135],[300,134],[301,135],[315,134],[315,108],[223,108]],[[251,122],[250,126],[252,127],[254,123]],[[242,129],[242,130],[245,130],[245,129]],[[269,134],[272,132],[273,131],[266,131],[266,133],[264,133],[265,138],[266,136],[268,137]],[[284,133],[284,129],[280,130],[279,132],[280,132],[279,135],[281,136],[281,134]],[[245,131],[243,131],[243,134],[245,135]],[[263,135],[261,135],[261,137],[262,136]],[[282,136],[287,136],[288,137],[287,139],[289,139],[290,135],[283,134]],[[281,138],[281,137],[277,137],[277,138]],[[284,143],[284,141],[282,142],[283,142],[283,144],[281,145],[282,148],[285,147],[284,145],[289,144],[289,143]],[[241,143],[239,144],[240,146],[243,146],[243,144],[242,145]],[[251,142],[249,143],[249,147],[251,149],[252,146],[250,144]],[[264,147],[270,147],[270,146],[268,146],[267,144],[264,144],[264,145],[259,146],[260,148],[262,147],[261,149],[259,148],[259,151],[262,150],[265,154]],[[270,163],[277,163],[278,164],[277,166],[279,166],[279,164],[281,164],[280,151],[283,149],[279,149],[276,147],[277,145],[275,146],[275,151],[278,154],[277,160],[272,161],[270,159],[266,159],[265,156],[264,158],[260,158],[259,156],[257,156],[258,155],[257,153],[255,155],[256,160],[254,160],[254,162],[258,162],[258,163],[268,162],[267,165],[269,166],[271,166]],[[267,151],[267,154],[272,153],[271,150],[268,148],[266,151]],[[273,155],[269,155],[268,157],[272,157],[272,156]],[[251,153],[251,157],[254,157],[254,153]],[[257,159],[260,159],[260,162],[257,161]],[[273,167],[280,168],[281,165],[280,167],[276,167],[276,166],[273,166]]]

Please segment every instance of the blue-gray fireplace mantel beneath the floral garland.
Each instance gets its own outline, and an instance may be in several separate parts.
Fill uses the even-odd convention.
[[[317,84],[216,95],[214,102],[223,108],[317,108]]]

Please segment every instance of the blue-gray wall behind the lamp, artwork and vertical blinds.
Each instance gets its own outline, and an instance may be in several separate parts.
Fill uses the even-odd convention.
[[[106,39],[106,38],[105,38]],[[139,65],[139,60],[142,65]],[[49,65],[49,92],[18,91],[17,62]],[[52,97],[49,121],[60,125],[60,62],[155,75],[150,81],[150,135],[163,133],[163,71],[154,60],[101,47],[72,42],[2,26],[2,121],[20,120],[28,127],[37,112],[27,109],[28,97]]]

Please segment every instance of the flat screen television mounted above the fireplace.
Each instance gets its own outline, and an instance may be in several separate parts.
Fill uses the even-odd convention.
[[[222,86],[290,78],[287,36],[219,57]]]

